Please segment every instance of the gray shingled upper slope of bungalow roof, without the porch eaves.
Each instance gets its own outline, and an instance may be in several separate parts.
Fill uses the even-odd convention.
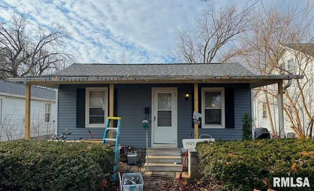
[[[72,64],[53,74],[57,77],[82,76],[210,76],[254,75],[239,63],[215,64]]]

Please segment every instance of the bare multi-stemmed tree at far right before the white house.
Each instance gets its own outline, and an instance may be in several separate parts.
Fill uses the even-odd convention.
[[[297,1],[301,2],[301,1]],[[302,1],[303,2],[303,1]],[[286,120],[299,138],[312,137],[314,121],[314,10],[313,1],[305,5],[295,4],[285,6],[273,1],[268,7],[251,10],[249,22],[250,31],[240,35],[240,46],[234,51],[240,52],[237,59],[229,61],[245,63],[258,74],[286,74],[298,73],[304,75],[302,80],[294,80],[284,94],[284,112]],[[291,47],[293,46],[293,47]],[[283,63],[283,53],[293,55],[293,70],[287,70]],[[285,85],[286,82],[284,82]],[[277,96],[277,86],[267,86],[260,89],[264,94],[264,101],[271,114],[270,97]],[[275,99],[276,100],[276,99]],[[272,116],[270,115],[270,120]],[[272,123],[271,123],[272,125]],[[274,127],[271,127],[274,131]]]

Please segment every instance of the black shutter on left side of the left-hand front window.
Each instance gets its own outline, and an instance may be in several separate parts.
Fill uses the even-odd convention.
[[[85,128],[85,89],[77,89],[77,127]]]

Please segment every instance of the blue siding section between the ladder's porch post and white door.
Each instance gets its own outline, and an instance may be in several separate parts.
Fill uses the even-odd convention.
[[[151,85],[121,84],[117,90],[118,111],[121,117],[120,144],[137,148],[146,148],[146,130],[142,120],[145,119],[144,108],[150,108],[148,120],[152,118]],[[151,145],[151,124],[148,128],[148,146]]]

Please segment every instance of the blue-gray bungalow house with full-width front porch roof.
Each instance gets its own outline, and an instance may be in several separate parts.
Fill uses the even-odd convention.
[[[299,78],[255,75],[239,63],[215,63],[73,64],[53,75],[10,80],[58,90],[57,131],[68,128],[68,139],[90,139],[88,129],[102,139],[106,118],[114,116],[122,118],[120,144],[145,149],[142,120],[148,119],[148,147],[165,154],[163,148],[182,148],[191,133],[193,138],[210,134],[215,140],[240,140],[243,114],[252,112],[251,90],[277,83],[282,97],[283,80]],[[193,112],[202,115],[199,123]]]

